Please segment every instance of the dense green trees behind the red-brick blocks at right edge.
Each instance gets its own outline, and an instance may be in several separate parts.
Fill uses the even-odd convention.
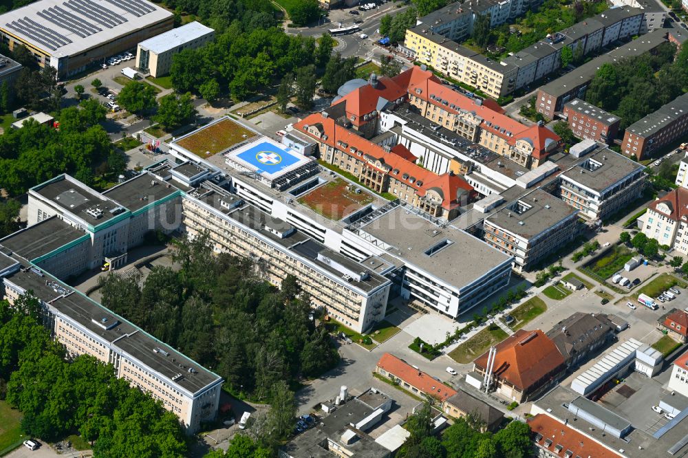
[[[621,118],[625,129],[688,90],[688,46],[663,43],[653,53],[605,63],[585,100]]]

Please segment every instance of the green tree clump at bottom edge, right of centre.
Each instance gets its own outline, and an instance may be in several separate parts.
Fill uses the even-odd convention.
[[[411,435],[397,453],[400,458],[526,458],[533,456],[530,427],[513,421],[497,433],[482,432],[475,418],[456,419],[441,437],[433,435],[433,410],[426,402],[409,417]]]

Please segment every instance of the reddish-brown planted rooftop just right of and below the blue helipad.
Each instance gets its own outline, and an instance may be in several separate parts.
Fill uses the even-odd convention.
[[[361,186],[351,186],[346,180],[336,178],[300,197],[299,203],[325,218],[338,221],[373,200],[373,196],[362,190]]]

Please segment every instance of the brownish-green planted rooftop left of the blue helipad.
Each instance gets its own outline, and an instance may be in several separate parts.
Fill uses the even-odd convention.
[[[225,118],[200,131],[186,135],[175,143],[199,157],[208,157],[255,135],[237,122]]]

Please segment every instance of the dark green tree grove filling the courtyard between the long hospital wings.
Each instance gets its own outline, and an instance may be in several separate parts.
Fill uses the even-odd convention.
[[[109,275],[103,305],[212,368],[235,393],[269,400],[276,382],[293,384],[338,363],[323,327],[309,318],[310,298],[288,276],[281,290],[261,265],[213,255],[207,235],[175,243],[181,269],[156,266],[139,279]]]

